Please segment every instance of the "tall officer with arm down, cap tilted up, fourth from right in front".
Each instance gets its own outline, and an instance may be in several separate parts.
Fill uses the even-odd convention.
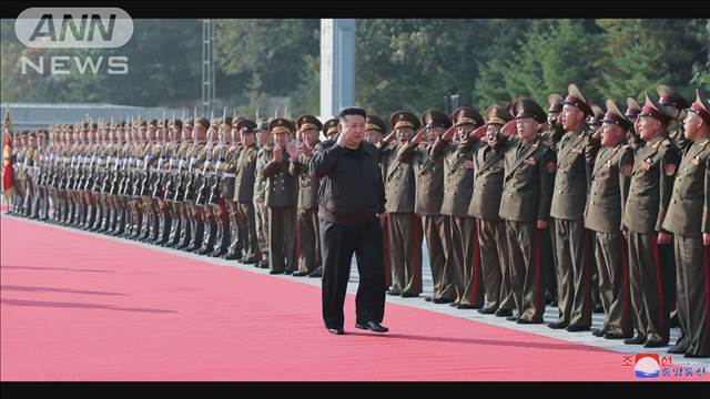
[[[550,328],[584,331],[591,326],[590,234],[585,229],[588,173],[598,141],[586,133],[592,113],[585,94],[574,83],[562,108],[565,135],[557,145],[557,172],[550,216],[555,223],[555,254],[559,320]]]

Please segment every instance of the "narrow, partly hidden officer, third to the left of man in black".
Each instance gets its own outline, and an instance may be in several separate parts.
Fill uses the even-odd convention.
[[[266,176],[262,173],[264,165],[272,158],[274,151],[274,137],[268,132],[268,122],[258,121],[256,123],[256,140],[258,141],[258,153],[256,154],[256,171],[254,183],[254,209],[256,211],[256,235],[258,237],[258,249],[262,253],[261,268],[268,267],[268,208],[266,206]]]

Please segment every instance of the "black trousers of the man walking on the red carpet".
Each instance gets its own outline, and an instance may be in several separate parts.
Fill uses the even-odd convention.
[[[385,316],[385,268],[379,219],[346,227],[321,219],[323,259],[323,320],[326,328],[343,328],[343,305],[355,254],[359,284],[355,297],[357,324],[382,323]]]

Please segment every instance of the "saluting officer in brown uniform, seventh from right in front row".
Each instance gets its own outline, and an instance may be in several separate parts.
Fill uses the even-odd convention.
[[[456,284],[456,300],[450,306],[475,309],[484,305],[484,285],[478,228],[468,206],[474,193],[474,157],[484,143],[470,133],[484,124],[484,119],[470,106],[455,110],[450,119],[454,126],[432,149],[433,160],[444,158],[442,214],[450,218],[452,228],[445,241]]]

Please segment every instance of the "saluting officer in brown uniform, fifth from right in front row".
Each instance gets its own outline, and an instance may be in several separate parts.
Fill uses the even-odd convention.
[[[518,324],[541,324],[545,314],[545,268],[540,265],[540,231],[547,227],[552,198],[555,152],[540,139],[545,111],[535,100],[509,104],[517,136],[506,143],[505,174],[499,215],[506,221],[513,296]],[[511,135],[508,124],[501,129]]]

